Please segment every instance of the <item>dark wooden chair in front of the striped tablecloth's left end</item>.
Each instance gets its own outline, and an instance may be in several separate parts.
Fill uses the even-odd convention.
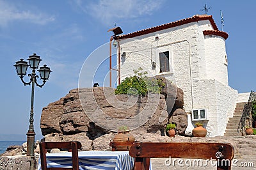
[[[82,148],[82,144],[77,141],[72,142],[42,142],[39,143],[40,146],[40,158],[41,158],[41,168],[42,170],[46,169],[79,169],[78,162],[78,149]],[[60,148],[67,149],[68,151],[72,151],[72,168],[64,168],[64,167],[49,167],[47,168],[46,162],[46,153],[47,149]]]

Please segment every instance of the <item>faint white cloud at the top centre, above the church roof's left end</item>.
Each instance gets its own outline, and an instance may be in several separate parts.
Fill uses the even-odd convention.
[[[89,13],[92,17],[108,24],[120,19],[136,19],[143,15],[152,15],[163,4],[164,0],[100,0],[97,3],[86,4],[76,0],[84,12]]]

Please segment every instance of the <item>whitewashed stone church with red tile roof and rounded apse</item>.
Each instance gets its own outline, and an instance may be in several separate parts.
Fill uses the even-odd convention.
[[[163,75],[184,92],[184,109],[191,113],[187,134],[201,121],[208,137],[224,135],[236,103],[247,102],[250,95],[228,86],[227,38],[211,15],[116,36],[120,79],[138,67],[148,76]]]

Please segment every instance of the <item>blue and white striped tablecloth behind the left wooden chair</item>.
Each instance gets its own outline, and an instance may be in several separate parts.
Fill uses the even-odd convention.
[[[72,155],[70,152],[47,153],[47,167],[71,167]],[[116,169],[130,170],[134,158],[129,151],[79,151],[79,169]],[[40,158],[38,170],[41,170]]]

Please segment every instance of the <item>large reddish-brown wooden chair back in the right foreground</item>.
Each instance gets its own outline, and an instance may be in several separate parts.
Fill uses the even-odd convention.
[[[135,158],[134,170],[148,170],[150,158],[165,157],[217,160],[218,170],[229,170],[234,148],[228,143],[134,143],[129,155]]]

